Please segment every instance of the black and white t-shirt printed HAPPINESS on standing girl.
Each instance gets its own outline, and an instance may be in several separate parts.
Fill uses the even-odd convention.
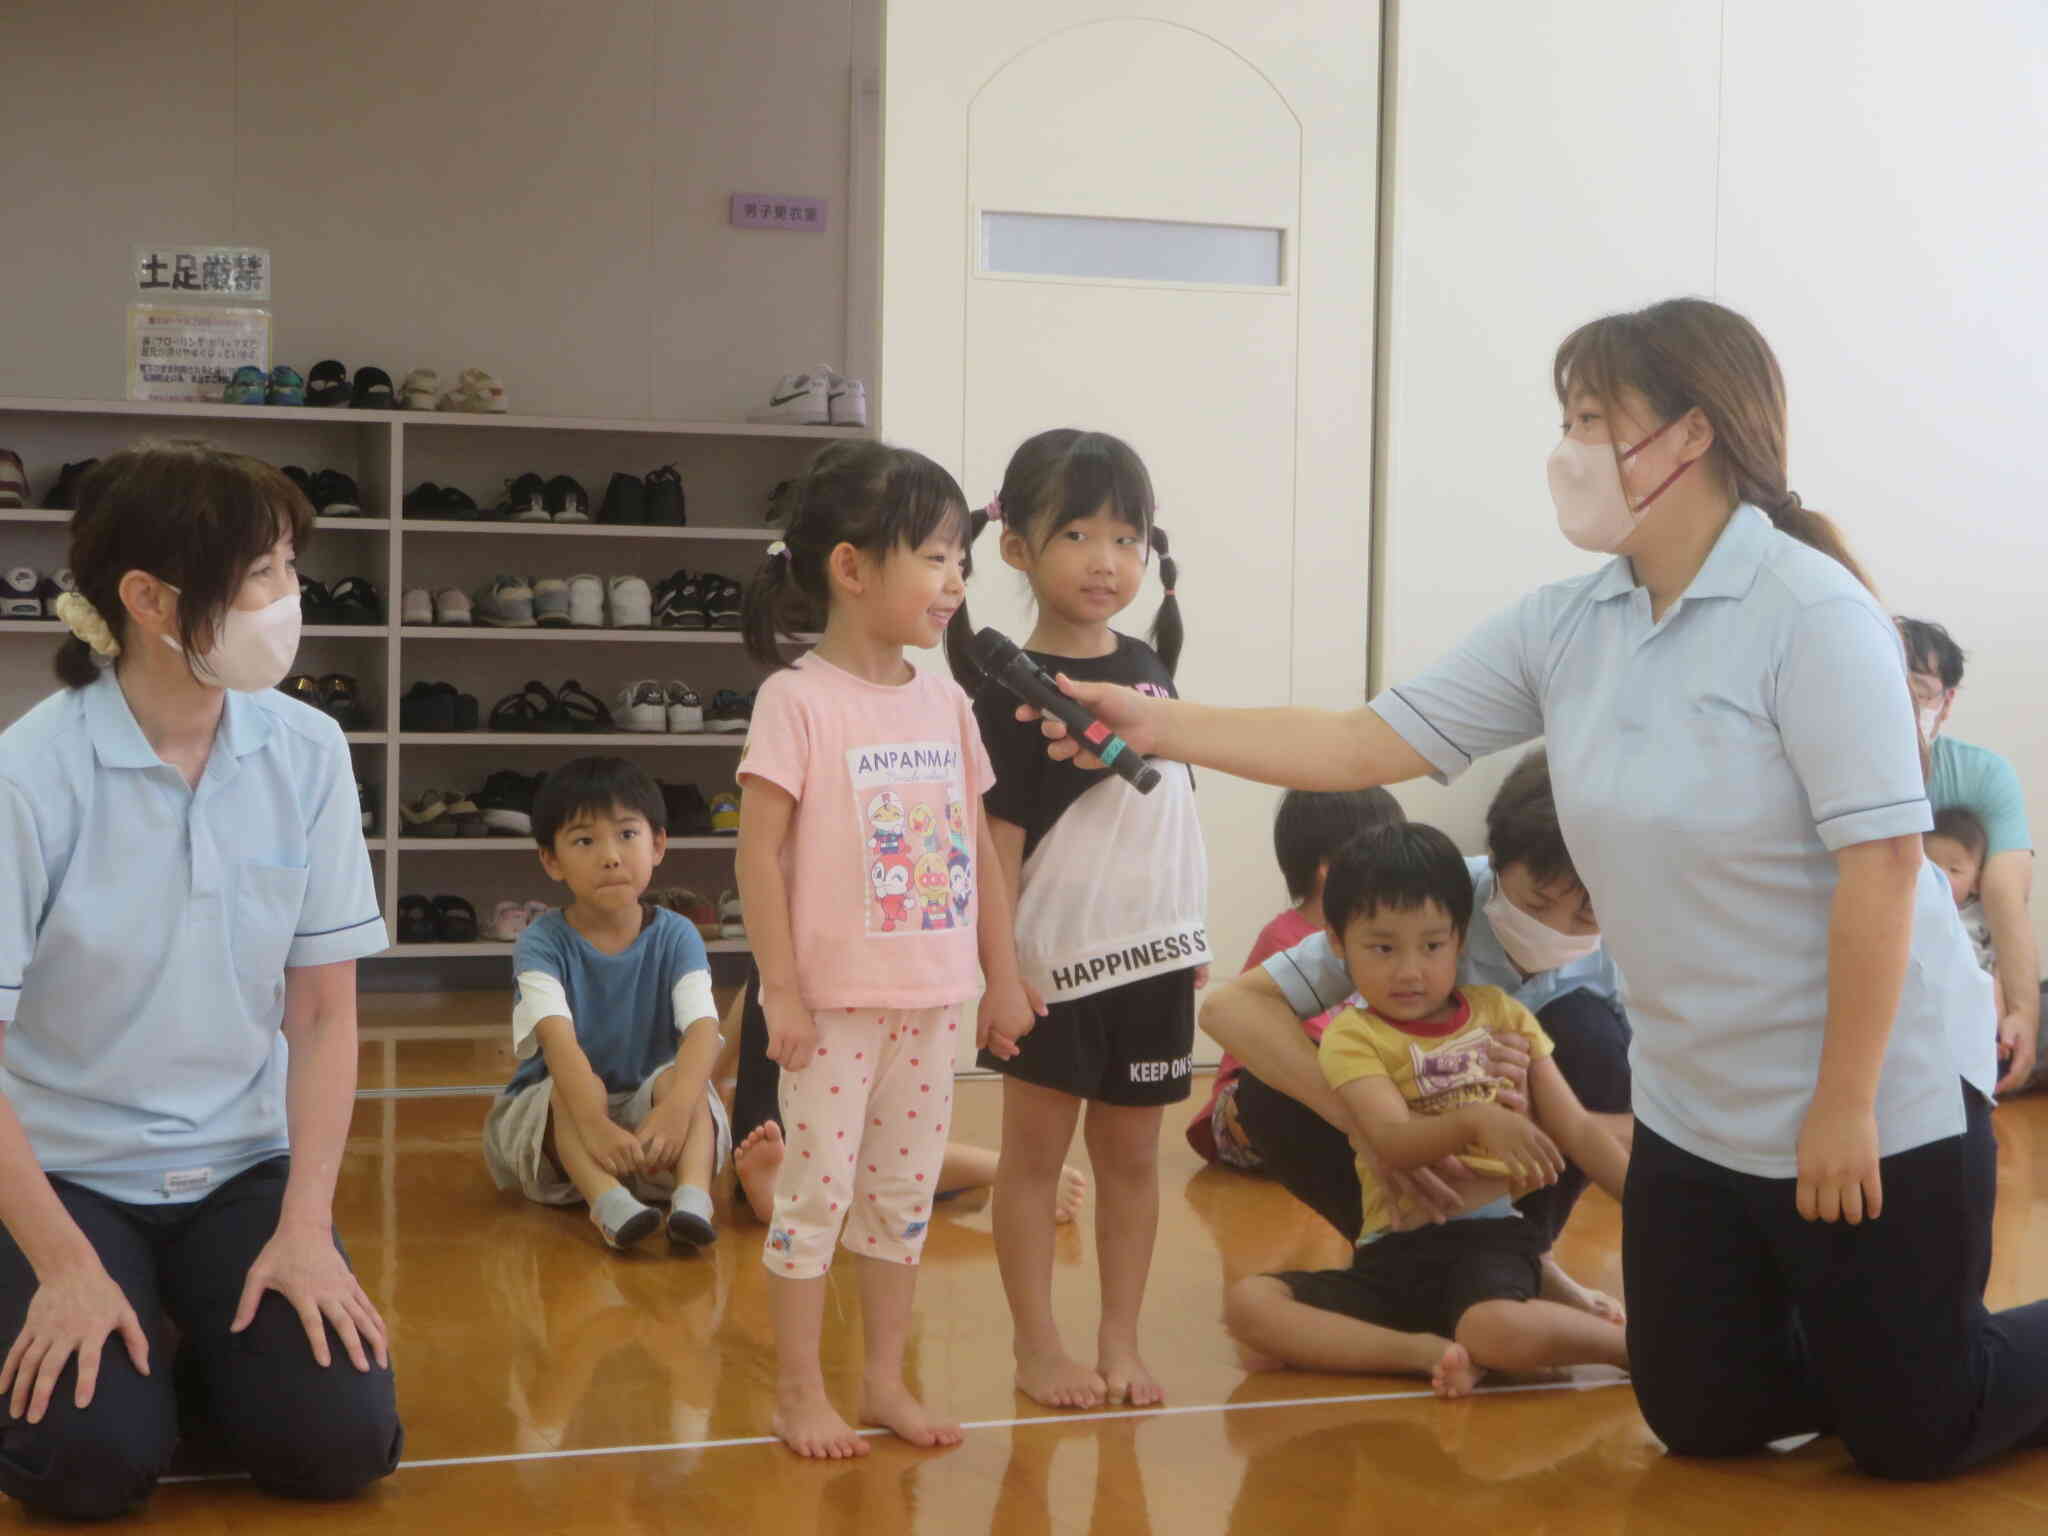
[[[1102,657],[1030,651],[1051,674],[1118,682],[1176,698],[1165,662],[1145,641],[1116,637]],[[1116,774],[1053,762],[1034,721],[1016,717],[997,682],[975,692],[975,721],[995,768],[989,815],[1024,829],[1018,961],[1047,1001],[1208,961],[1208,856],[1186,764],[1157,762],[1139,795]]]

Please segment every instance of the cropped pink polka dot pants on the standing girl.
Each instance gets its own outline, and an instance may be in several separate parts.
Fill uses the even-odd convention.
[[[817,1014],[817,1053],[782,1073],[782,1176],[762,1262],[811,1280],[838,1241],[915,1264],[952,1122],[958,1008]]]

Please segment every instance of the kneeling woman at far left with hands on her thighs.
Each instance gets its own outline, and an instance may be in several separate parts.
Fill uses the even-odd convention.
[[[39,1513],[133,1507],[180,1434],[297,1497],[397,1464],[334,1239],[385,926],[348,743],[274,690],[311,516],[240,455],[106,459],[66,686],[0,733],[0,1491]]]

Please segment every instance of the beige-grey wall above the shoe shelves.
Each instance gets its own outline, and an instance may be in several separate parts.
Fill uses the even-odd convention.
[[[872,373],[879,6],[12,0],[0,395],[121,397],[152,240],[268,246],[301,373],[479,365],[518,412],[668,420]],[[731,229],[739,190],[834,227]]]

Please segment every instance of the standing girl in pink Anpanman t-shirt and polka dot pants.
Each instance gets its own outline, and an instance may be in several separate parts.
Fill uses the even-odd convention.
[[[819,1333],[836,1245],[860,1257],[860,1419],[915,1446],[961,1427],[903,1382],[918,1255],[952,1118],[961,1004],[977,1042],[1032,1026],[1010,895],[981,795],[995,782],[958,684],[915,670],[965,598],[967,502],[907,449],[844,442],[799,481],[748,600],[748,651],[774,668],[739,760],[739,893],[782,1067],[788,1149],[764,1264],[774,1432],[801,1456],[868,1450],[825,1395]],[[788,666],[782,637],[823,639]]]

